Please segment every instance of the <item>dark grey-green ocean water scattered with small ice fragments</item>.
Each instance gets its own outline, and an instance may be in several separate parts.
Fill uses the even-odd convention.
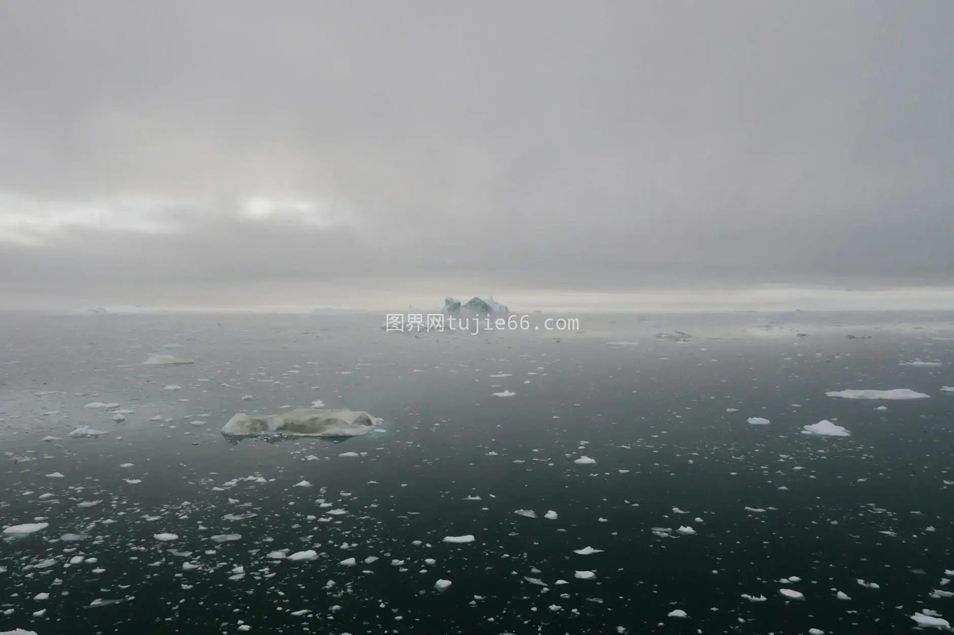
[[[954,314],[580,319],[473,336],[386,333],[367,316],[0,318],[0,525],[49,523],[0,543],[0,631],[875,635],[925,609],[954,621]],[[655,335],[675,330],[692,337]],[[141,365],[153,353],[195,363]],[[901,365],[916,359],[941,365]],[[930,398],[825,396],[893,388]],[[315,399],[383,431],[219,434],[237,412]],[[851,436],[800,434],[820,420]],[[82,425],[107,434],[67,437]],[[587,546],[601,551],[574,553]]]

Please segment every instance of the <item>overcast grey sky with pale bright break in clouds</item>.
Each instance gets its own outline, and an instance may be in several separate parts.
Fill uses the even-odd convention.
[[[951,285],[948,0],[0,0],[0,304]]]

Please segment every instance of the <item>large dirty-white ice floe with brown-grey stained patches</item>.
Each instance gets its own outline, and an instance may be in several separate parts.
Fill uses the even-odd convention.
[[[278,415],[250,417],[243,412],[222,426],[226,436],[284,435],[297,437],[360,437],[384,420],[362,410],[296,408]]]

